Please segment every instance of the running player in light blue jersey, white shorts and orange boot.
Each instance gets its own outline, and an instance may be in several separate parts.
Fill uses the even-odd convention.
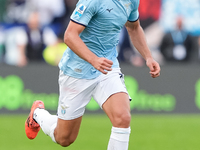
[[[55,143],[69,146],[78,135],[85,107],[93,97],[113,125],[107,149],[128,149],[130,97],[116,50],[124,25],[151,76],[160,75],[160,66],[152,58],[140,26],[138,6],[139,0],[79,0],[64,35],[68,48],[59,63],[57,115],[45,110],[42,101],[35,101],[25,122],[29,139],[34,139],[41,127]]]

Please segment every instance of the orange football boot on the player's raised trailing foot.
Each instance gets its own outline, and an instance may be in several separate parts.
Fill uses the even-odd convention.
[[[44,103],[37,100],[31,107],[31,112],[25,122],[25,132],[29,139],[34,139],[40,131],[40,125],[33,119],[33,113],[36,108],[44,109]]]

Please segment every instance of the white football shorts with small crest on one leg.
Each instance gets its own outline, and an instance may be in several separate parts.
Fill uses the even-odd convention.
[[[113,94],[125,92],[124,75],[120,68],[114,68],[107,75],[95,79],[77,79],[59,73],[58,118],[72,120],[83,116],[86,105],[93,97],[102,108],[103,103]],[[129,96],[130,97],[130,96]]]

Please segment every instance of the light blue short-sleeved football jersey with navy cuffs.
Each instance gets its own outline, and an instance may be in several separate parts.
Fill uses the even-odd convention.
[[[71,20],[85,26],[80,38],[98,57],[113,61],[119,68],[116,46],[124,24],[136,21],[139,0],[79,0]],[[59,63],[64,74],[75,78],[93,79],[101,72],[77,56],[69,47]]]

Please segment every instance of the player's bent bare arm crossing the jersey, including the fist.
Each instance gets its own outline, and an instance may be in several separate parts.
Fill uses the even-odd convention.
[[[79,34],[85,29],[85,26],[69,22],[69,25],[65,31],[64,42],[67,46],[76,53],[80,58],[89,62],[94,68],[107,74],[107,71],[111,71],[113,62],[103,57],[96,56],[92,51],[88,49],[85,43],[79,37]]]

